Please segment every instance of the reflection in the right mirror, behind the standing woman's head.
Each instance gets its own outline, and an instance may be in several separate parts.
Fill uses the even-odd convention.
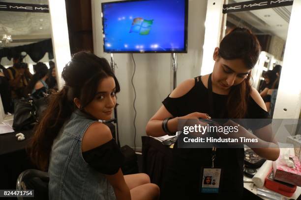
[[[230,3],[245,0],[229,0]],[[258,38],[262,51],[252,70],[256,88],[273,116],[292,6],[227,14],[226,33],[232,27],[249,28]]]

